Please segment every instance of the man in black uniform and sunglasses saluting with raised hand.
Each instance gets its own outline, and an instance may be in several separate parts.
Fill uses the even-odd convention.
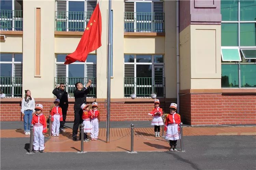
[[[59,106],[62,109],[63,121],[60,122],[60,132],[66,132],[64,129],[64,124],[66,122],[67,110],[69,106],[68,92],[65,91],[65,87],[66,86],[64,83],[60,83],[60,85],[53,90],[53,94],[57,97],[57,99],[60,100]]]

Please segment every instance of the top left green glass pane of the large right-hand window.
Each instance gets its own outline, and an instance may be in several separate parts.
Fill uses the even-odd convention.
[[[238,1],[221,1],[222,21],[238,21]]]

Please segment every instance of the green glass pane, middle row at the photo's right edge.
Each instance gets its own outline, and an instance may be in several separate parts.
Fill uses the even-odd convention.
[[[256,46],[255,30],[256,23],[240,23],[240,46]]]

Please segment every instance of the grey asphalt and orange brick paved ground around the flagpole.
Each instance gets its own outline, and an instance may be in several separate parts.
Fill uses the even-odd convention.
[[[67,123],[66,133],[60,137],[45,138],[47,141],[45,150],[48,152],[27,154],[29,136],[23,134],[23,123],[1,122],[0,168],[3,170],[256,169],[255,126],[188,126],[183,128],[185,152],[170,152],[167,151],[169,149],[168,142],[152,136],[153,128],[149,122],[134,122],[134,124],[136,127],[134,129],[134,151],[143,151],[143,148],[146,147],[155,152],[138,152],[137,154],[126,152],[130,149],[130,134],[127,128],[130,122],[111,122],[111,126],[115,127],[115,129],[111,129],[111,140],[120,137],[122,139],[111,141],[112,144],[108,145],[103,141],[105,140],[105,122],[101,122],[100,137],[102,141],[84,142],[84,150],[94,152],[77,153],[80,149],[80,141],[73,142],[69,139],[71,133],[69,127],[72,127],[73,123]],[[71,152],[65,152],[66,141],[72,144],[69,144],[68,148],[69,151],[72,150]],[[179,148],[180,141],[177,143],[177,148]],[[105,152],[95,152],[100,147],[105,148],[102,150]],[[108,152],[113,149],[119,152]],[[57,150],[62,150],[62,153],[56,152]]]

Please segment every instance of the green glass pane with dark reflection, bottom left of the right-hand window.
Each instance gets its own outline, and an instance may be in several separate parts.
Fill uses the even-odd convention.
[[[221,87],[239,87],[237,64],[221,65]]]

